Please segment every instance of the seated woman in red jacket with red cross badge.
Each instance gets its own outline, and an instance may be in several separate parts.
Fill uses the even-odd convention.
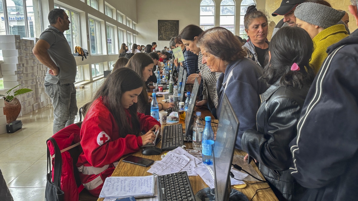
[[[81,127],[77,168],[83,186],[99,196],[106,177],[111,176],[123,155],[139,151],[153,142],[160,123],[137,113],[142,79],[129,68],[111,73],[98,89]],[[146,134],[140,136],[140,132]]]

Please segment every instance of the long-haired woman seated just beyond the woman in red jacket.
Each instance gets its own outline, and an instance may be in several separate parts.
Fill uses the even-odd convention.
[[[153,66],[154,62],[152,58],[145,53],[137,53],[129,59],[125,67],[134,70],[142,78],[142,84],[145,85],[144,83],[153,75]],[[150,102],[151,100],[148,98],[147,91],[143,88],[138,96],[137,112],[150,115]],[[161,103],[159,101],[158,105],[159,111],[174,107],[174,103]]]

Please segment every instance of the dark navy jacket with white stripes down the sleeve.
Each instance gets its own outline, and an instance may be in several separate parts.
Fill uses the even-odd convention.
[[[329,46],[291,143],[302,200],[358,199],[358,31]]]

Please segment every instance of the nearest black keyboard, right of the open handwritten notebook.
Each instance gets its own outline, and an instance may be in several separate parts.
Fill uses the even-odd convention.
[[[157,184],[160,201],[195,201],[187,171],[158,176]]]

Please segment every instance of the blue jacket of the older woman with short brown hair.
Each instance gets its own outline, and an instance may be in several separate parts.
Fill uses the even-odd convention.
[[[233,70],[232,70],[233,69]],[[232,70],[229,82],[227,78]],[[227,65],[225,74],[219,76],[217,82],[218,107],[217,117],[220,119],[221,102],[225,93],[240,121],[236,139],[236,148],[241,149],[241,137],[244,131],[256,127],[256,113],[260,106],[260,94],[268,88],[266,82],[259,79],[262,68],[253,60],[243,58]]]

